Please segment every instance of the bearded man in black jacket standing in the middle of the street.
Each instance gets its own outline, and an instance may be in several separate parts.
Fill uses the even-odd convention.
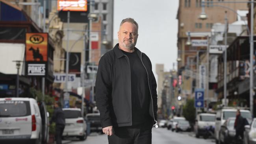
[[[98,65],[96,103],[109,144],[151,144],[156,123],[156,79],[150,59],[135,48],[138,24],[122,20],[119,43]]]

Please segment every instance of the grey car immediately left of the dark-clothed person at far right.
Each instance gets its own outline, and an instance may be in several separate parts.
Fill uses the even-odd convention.
[[[221,144],[230,144],[234,142],[236,129],[234,128],[236,118],[228,118],[221,126],[219,132],[219,141]]]

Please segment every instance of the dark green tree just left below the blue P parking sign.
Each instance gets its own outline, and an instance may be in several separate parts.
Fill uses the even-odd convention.
[[[187,100],[187,103],[183,106],[183,115],[191,124],[195,122],[195,107],[194,99]]]

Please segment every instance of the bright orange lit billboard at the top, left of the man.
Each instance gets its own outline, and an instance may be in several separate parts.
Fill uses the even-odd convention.
[[[87,0],[58,0],[58,11],[87,11]]]

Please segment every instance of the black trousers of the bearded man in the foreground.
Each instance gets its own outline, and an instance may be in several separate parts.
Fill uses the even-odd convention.
[[[152,125],[113,127],[113,135],[108,136],[109,144],[151,144]]]

